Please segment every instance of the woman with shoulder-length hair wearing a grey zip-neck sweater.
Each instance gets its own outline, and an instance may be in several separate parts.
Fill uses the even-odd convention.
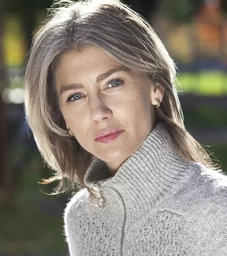
[[[44,183],[80,187],[64,213],[71,256],[227,255],[227,180],[186,131],[176,81],[118,0],[68,2],[36,34],[25,109],[55,170]]]

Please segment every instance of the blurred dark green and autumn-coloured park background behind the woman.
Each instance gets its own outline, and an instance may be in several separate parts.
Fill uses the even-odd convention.
[[[178,66],[187,130],[227,171],[227,1],[125,1],[154,27]],[[23,66],[50,0],[0,0],[0,256],[65,256],[63,210],[72,191],[47,195],[25,120]],[[30,135],[30,138],[29,138]]]

